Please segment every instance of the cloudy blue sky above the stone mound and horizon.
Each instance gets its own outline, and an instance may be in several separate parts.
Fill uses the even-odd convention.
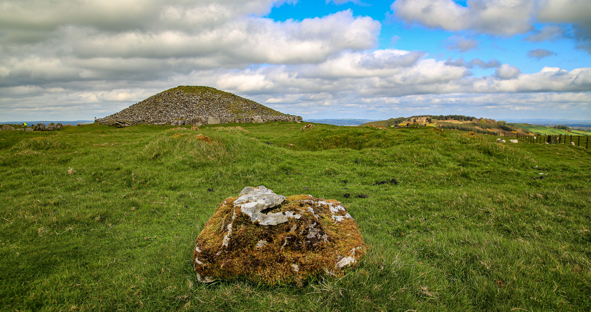
[[[591,120],[591,1],[0,2],[0,121],[186,85],[304,119]]]

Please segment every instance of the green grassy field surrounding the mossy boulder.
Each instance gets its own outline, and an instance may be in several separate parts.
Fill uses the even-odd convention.
[[[0,309],[591,309],[589,150],[433,127],[235,126],[202,127],[213,144],[168,126],[0,132]],[[343,202],[371,251],[301,288],[197,283],[197,234],[248,185]]]

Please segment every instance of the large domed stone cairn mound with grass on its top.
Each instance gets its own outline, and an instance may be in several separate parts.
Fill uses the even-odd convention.
[[[236,94],[204,86],[178,86],[135,103],[118,113],[98,119],[112,125],[151,123],[182,126],[215,123],[300,122],[300,116],[284,114]]]

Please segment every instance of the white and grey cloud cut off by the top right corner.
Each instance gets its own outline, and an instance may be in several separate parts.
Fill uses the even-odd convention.
[[[591,1],[589,0],[395,0],[394,15],[408,24],[451,31],[473,31],[511,37],[531,32],[525,40],[567,38],[570,24],[578,47],[591,53]],[[534,23],[553,23],[534,29]]]

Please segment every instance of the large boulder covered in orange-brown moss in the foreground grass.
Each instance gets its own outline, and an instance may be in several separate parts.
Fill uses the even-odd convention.
[[[197,280],[245,277],[262,284],[297,283],[341,274],[367,251],[345,206],[311,195],[277,195],[247,186],[226,198],[197,237]]]

